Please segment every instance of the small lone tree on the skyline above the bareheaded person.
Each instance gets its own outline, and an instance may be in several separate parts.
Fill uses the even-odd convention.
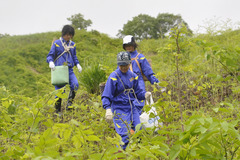
[[[87,29],[87,27],[91,26],[92,21],[90,19],[85,20],[81,13],[72,15],[71,17],[67,18],[68,21],[72,22],[72,26],[75,29]]]

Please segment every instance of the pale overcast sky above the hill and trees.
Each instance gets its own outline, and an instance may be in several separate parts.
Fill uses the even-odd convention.
[[[116,37],[139,14],[179,14],[193,31],[211,20],[240,22],[240,0],[0,0],[0,33],[25,35],[61,31],[71,15],[92,21],[89,30]]]

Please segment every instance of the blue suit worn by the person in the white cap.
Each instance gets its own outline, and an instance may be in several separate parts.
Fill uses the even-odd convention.
[[[135,58],[138,55],[138,52],[137,52],[137,50],[135,50],[133,52],[130,52],[130,54],[131,54],[131,58]],[[147,59],[145,58],[145,56],[143,54],[139,54],[137,60],[141,66],[143,74],[148,78],[150,83],[151,84],[158,83],[159,80],[154,76],[155,74],[153,73],[153,70],[152,70],[150,64],[148,63]],[[132,60],[132,69],[133,69],[133,72],[138,75],[138,81],[139,81],[140,88],[145,91],[145,83],[143,80],[143,76],[142,76],[141,70],[139,69],[137,62],[135,60]],[[140,104],[137,102],[134,102],[134,104],[137,107],[139,114],[141,114],[142,108],[144,106],[144,101],[141,101]]]

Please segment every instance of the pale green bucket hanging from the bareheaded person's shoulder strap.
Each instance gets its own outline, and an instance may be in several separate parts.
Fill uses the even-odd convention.
[[[54,86],[63,86],[69,83],[68,66],[56,66],[51,70],[51,83]]]

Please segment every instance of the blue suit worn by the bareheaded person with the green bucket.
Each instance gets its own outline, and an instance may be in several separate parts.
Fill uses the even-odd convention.
[[[77,90],[79,87],[78,80],[73,72],[73,67],[79,64],[78,58],[76,56],[76,44],[72,41],[66,42],[63,38],[62,42],[70,46],[70,50],[65,52],[56,62],[54,60],[64,52],[64,47],[60,39],[53,42],[50,52],[47,55],[47,62],[54,62],[55,66],[61,66],[64,62],[68,63],[69,66],[69,85],[71,90]],[[71,44],[70,44],[71,43]],[[55,89],[60,89],[63,86],[55,86]]]

